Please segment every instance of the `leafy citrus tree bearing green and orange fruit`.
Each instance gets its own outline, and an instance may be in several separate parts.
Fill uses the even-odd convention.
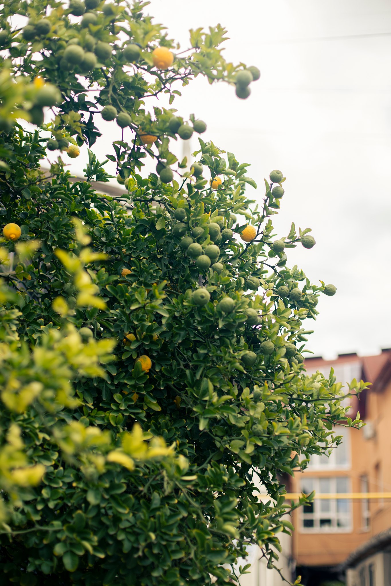
[[[206,76],[245,99],[259,70],[225,61],[220,25],[180,50],[146,5],[0,9],[0,569],[14,584],[226,584],[250,544],[278,567],[284,477],[345,418],[332,373],[303,367],[302,322],[335,287],[287,266],[315,240],[273,235],[283,173],[254,200],[234,154],[200,137],[191,161],[171,148],[206,136],[172,107],[181,86]],[[101,118],[117,138],[102,162]]]

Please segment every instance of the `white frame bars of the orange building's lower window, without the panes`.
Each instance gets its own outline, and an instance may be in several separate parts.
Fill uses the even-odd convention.
[[[323,479],[329,479],[330,481],[330,493],[336,493],[336,480],[338,478],[346,478],[348,480],[348,491],[351,492],[351,479],[349,476],[311,476],[311,481],[314,483],[314,490],[317,493],[321,493],[320,490],[320,481]],[[308,478],[309,479],[309,478]],[[341,493],[344,494],[344,493]],[[337,513],[337,500],[338,499],[329,499],[327,502],[330,503],[330,511],[329,512],[322,512],[321,511],[321,503],[323,502],[322,499],[317,499],[315,495],[314,499],[314,512],[313,513],[305,513],[304,506],[300,507],[300,532],[301,533],[352,533],[353,531],[353,513],[352,513],[352,501],[350,499],[344,499],[348,502],[348,513]],[[344,518],[345,520],[349,521],[349,524],[346,527],[338,527],[336,522],[337,519]],[[304,520],[305,519],[313,519],[314,520],[314,527],[304,527]],[[331,519],[332,524],[331,527],[327,526],[320,526],[321,519]]]

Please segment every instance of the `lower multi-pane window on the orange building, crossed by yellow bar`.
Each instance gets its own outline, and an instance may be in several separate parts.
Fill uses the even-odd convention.
[[[349,478],[304,478],[301,490],[305,494],[315,490],[321,494],[343,494],[350,492]],[[304,505],[301,513],[302,530],[312,533],[348,533],[352,530],[352,506],[349,499],[317,499]]]

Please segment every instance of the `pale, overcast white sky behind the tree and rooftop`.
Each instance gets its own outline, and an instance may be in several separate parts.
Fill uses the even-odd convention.
[[[390,347],[390,0],[152,0],[147,11],[182,49],[188,29],[220,23],[226,59],[261,70],[247,100],[198,78],[172,107],[205,120],[203,139],[251,163],[259,190],[249,195],[261,200],[271,169],[287,177],[276,233],[294,221],[317,241],[288,250],[288,265],[338,289],[321,296],[316,322],[304,322],[315,330],[308,348],[332,358]],[[104,129],[100,157],[120,138],[114,122]]]

